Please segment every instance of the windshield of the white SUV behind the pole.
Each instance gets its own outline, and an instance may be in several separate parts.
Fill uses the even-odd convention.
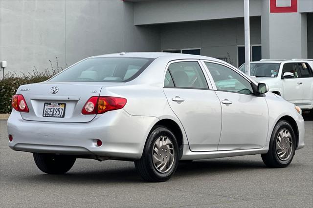
[[[280,63],[250,63],[250,74],[255,77],[277,77]],[[239,67],[245,73],[245,64]]]

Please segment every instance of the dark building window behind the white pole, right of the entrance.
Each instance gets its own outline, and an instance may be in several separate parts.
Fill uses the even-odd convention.
[[[262,59],[262,46],[250,46],[250,61],[260,61]],[[245,46],[237,46],[237,63],[238,67],[245,63]]]

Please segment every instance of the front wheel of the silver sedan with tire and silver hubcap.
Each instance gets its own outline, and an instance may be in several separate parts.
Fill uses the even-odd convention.
[[[287,121],[279,121],[272,132],[268,153],[261,154],[268,167],[287,167],[295,151],[295,134]]]

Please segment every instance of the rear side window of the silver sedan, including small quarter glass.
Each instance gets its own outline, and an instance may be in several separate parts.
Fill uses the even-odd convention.
[[[175,87],[208,89],[198,62],[171,63],[166,72],[164,86],[171,85],[170,76]]]

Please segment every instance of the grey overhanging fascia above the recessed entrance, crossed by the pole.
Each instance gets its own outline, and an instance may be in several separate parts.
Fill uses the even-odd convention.
[[[135,25],[244,17],[243,0],[151,0],[135,2]],[[262,0],[250,0],[250,16],[260,16]]]

